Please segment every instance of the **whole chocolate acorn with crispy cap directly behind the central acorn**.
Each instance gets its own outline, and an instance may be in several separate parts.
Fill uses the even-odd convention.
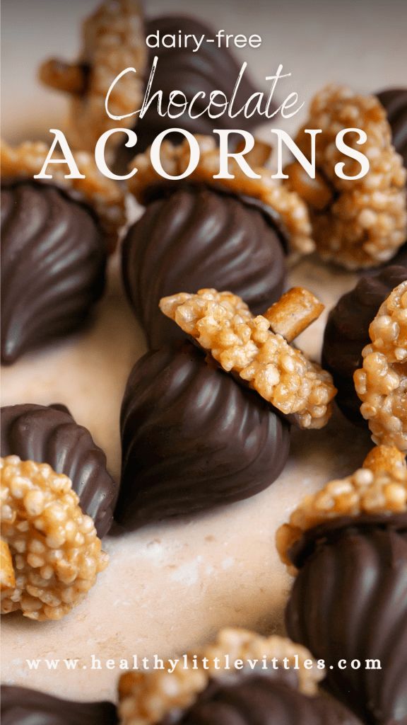
[[[254,312],[267,309],[285,281],[284,249],[310,251],[309,220],[296,194],[268,183],[259,166],[269,146],[256,144],[255,183],[239,167],[231,180],[215,182],[219,149],[212,138],[197,138],[201,157],[188,185],[165,181],[149,154],[135,159],[138,174],[130,191],[146,212],[127,233],[122,275],[130,304],[146,331],[150,347],[182,334],[159,312],[161,297],[202,287],[229,289],[243,296]],[[164,166],[182,169],[188,144],[163,148]],[[284,249],[283,249],[284,248]]]

